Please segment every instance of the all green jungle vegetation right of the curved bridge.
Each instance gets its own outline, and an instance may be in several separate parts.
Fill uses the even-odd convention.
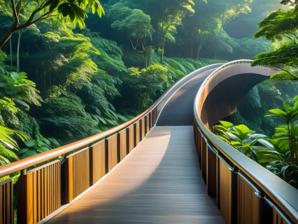
[[[298,189],[298,1],[281,4],[290,8],[269,13],[254,34],[271,41],[271,51],[258,54],[252,63],[280,72],[254,87],[238,111],[213,131]]]

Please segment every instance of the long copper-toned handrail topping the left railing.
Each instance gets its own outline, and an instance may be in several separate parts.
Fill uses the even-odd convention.
[[[156,102],[151,105],[146,111],[144,111],[143,113],[141,113],[140,115],[136,116],[135,118],[131,119],[128,122],[125,122],[121,125],[118,125],[117,127],[111,128],[107,131],[103,131],[99,134],[96,134],[94,136],[90,136],[88,138],[79,140],[77,142],[73,142],[70,143],[68,145],[64,145],[61,146],[59,148],[55,148],[52,149],[50,151],[47,152],[43,152],[31,157],[27,157],[25,159],[21,159],[18,160],[16,162],[12,162],[10,164],[7,165],[3,165],[0,166],[0,178],[1,177],[5,177],[7,175],[13,174],[15,172],[24,170],[26,168],[29,168],[31,166],[34,165],[38,165],[42,162],[46,162],[50,159],[54,159],[56,157],[59,157],[60,155],[75,151],[77,149],[83,148],[83,147],[87,147],[90,146],[92,144],[94,144],[95,142],[98,142],[101,139],[104,139],[112,134],[116,134],[117,132],[127,128],[128,126],[134,124],[135,122],[137,122],[138,120],[142,119],[144,116],[146,116],[148,113],[150,113],[151,111],[153,111],[160,102],[162,102],[162,100],[164,100],[167,97],[170,97],[169,93],[172,93],[172,90],[176,90],[177,87],[179,87],[179,85],[181,85],[181,83],[183,82],[187,82],[189,79],[191,79],[193,76],[195,76],[196,74],[202,72],[203,70],[208,70],[211,68],[215,68],[218,67],[222,64],[215,64],[215,65],[207,65],[205,67],[202,67],[198,70],[193,71],[192,73],[184,76],[183,78],[181,78],[180,80],[178,80],[177,82],[175,82],[173,85],[171,85],[163,94],[162,96],[159,97],[159,99],[156,100]]]

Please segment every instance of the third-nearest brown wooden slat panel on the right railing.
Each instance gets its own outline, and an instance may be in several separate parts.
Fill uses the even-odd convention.
[[[220,170],[220,211],[223,217],[223,220],[226,224],[231,224],[237,222],[237,208],[235,211],[236,201],[233,201],[233,194],[236,194],[237,200],[237,175],[232,172],[229,167],[225,164],[225,162],[220,159],[219,162],[219,170]],[[236,187],[235,187],[236,180]]]

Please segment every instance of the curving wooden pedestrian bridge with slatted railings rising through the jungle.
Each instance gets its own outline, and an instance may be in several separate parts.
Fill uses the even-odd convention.
[[[276,72],[248,60],[198,69],[125,124],[0,167],[21,171],[18,223],[298,223],[298,191],[208,129]],[[0,191],[13,223],[12,182]]]

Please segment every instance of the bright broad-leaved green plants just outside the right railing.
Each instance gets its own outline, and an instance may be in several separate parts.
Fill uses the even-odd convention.
[[[271,138],[255,134],[245,125],[234,126],[226,121],[221,121],[221,125],[215,125],[212,129],[226,143],[298,188],[298,101],[293,107],[283,102],[283,107],[284,110],[271,109],[270,114],[265,116],[281,119],[285,123],[275,128]]]

